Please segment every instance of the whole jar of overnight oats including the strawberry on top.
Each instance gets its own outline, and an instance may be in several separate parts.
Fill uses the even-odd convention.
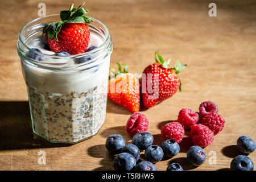
[[[53,143],[96,135],[106,120],[108,28],[81,6],[27,23],[18,54],[34,133]]]

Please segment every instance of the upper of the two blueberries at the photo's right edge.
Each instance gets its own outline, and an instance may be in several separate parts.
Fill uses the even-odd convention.
[[[250,137],[241,136],[237,139],[237,147],[244,154],[250,154],[255,151],[256,143]]]

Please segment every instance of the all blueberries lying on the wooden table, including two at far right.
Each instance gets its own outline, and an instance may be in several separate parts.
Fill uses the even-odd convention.
[[[157,171],[156,162],[163,159],[163,156],[172,158],[180,151],[180,146],[175,140],[164,140],[161,146],[152,144],[154,137],[148,132],[141,132],[134,135],[131,144],[126,144],[125,139],[118,134],[110,135],[106,139],[106,148],[113,155],[113,167],[115,171]],[[242,136],[237,140],[237,146],[244,154],[254,152],[256,144],[254,140],[247,136]],[[141,151],[144,151],[146,160],[138,162]],[[203,148],[192,146],[187,151],[187,160],[193,166],[200,166],[205,162],[206,154]],[[246,155],[238,155],[230,164],[230,169],[235,171],[253,171],[254,164]],[[167,171],[183,171],[178,163],[172,163],[167,167]]]

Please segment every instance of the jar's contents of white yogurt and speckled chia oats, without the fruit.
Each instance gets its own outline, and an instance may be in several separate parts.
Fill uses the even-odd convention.
[[[55,52],[44,49],[44,42],[42,36],[36,36],[27,46],[53,55]],[[90,35],[88,47],[101,44],[98,36]],[[43,69],[22,61],[36,134],[53,143],[76,143],[97,134],[106,119],[110,55],[99,57],[97,61],[102,63],[92,63],[96,67],[84,71],[68,59],[52,61],[67,62],[74,66],[72,70]]]

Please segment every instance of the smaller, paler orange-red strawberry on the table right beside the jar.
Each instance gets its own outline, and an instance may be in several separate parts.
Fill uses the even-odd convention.
[[[114,77],[110,76],[108,97],[115,104],[121,105],[132,112],[139,111],[139,80],[133,74],[128,73],[128,66],[126,64],[122,71],[121,64],[117,63],[119,67],[118,73],[113,69],[110,71],[114,73]]]

